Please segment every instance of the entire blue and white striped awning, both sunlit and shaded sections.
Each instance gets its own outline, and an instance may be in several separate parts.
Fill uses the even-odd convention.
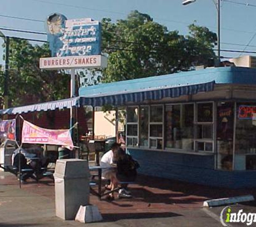
[[[158,87],[149,89],[140,89],[132,91],[122,91],[118,93],[106,93],[79,96],[68,98],[66,100],[59,100],[46,103],[38,103],[33,105],[26,105],[24,107],[15,107],[5,110],[0,110],[0,115],[16,115],[20,113],[34,112],[34,111],[49,111],[56,109],[70,109],[71,107],[81,107],[84,105],[91,105],[93,107],[102,107],[103,105],[126,105],[129,103],[141,103],[147,100],[162,100],[162,98],[176,98],[183,95],[193,95],[200,92],[212,91],[214,89],[215,81],[190,84],[179,87]]]

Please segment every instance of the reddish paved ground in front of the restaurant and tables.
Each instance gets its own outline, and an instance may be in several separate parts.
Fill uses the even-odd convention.
[[[244,195],[256,190],[227,190],[193,185],[181,181],[140,176],[138,185],[130,189],[132,199],[99,201],[103,222],[87,226],[220,226],[202,209],[204,200]],[[254,209],[255,203],[250,203]],[[218,212],[216,216],[218,216]],[[0,226],[85,226],[55,217],[54,185],[49,179],[18,187],[15,176],[0,172]]]

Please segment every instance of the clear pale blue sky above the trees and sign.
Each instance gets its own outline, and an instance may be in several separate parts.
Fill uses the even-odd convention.
[[[195,3],[182,5],[183,0],[0,0],[0,31],[7,36],[46,40],[44,35],[25,34],[1,30],[2,28],[46,32],[45,23],[12,19],[3,16],[30,18],[45,21],[53,12],[59,12],[68,19],[111,18],[113,22],[124,19],[132,10],[150,15],[155,22],[188,34],[188,25],[209,27],[217,31],[217,0],[196,0]],[[247,4],[247,5],[246,5]],[[256,55],[256,0],[222,0],[221,49],[255,51]],[[255,37],[254,37],[255,36]],[[0,40],[0,44],[2,40]],[[34,43],[34,42],[33,42]],[[0,55],[2,55],[0,47]],[[222,52],[225,58],[238,57],[240,53]],[[248,55],[242,53],[241,55]],[[0,57],[0,64],[3,63]]]

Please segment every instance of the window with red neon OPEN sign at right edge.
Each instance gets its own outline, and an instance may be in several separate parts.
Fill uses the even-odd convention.
[[[237,103],[234,169],[254,169],[256,157],[256,103]]]

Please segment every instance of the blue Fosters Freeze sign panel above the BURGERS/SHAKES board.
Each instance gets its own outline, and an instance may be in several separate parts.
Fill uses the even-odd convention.
[[[47,18],[47,40],[53,57],[101,54],[101,24],[91,18],[70,19],[59,13]]]

